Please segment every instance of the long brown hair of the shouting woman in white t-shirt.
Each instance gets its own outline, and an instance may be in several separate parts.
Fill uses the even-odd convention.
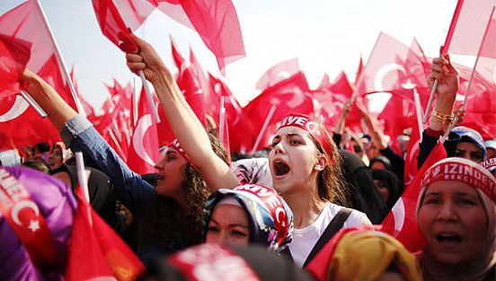
[[[314,136],[310,136],[314,145],[317,147],[319,154],[325,156],[328,162],[323,171],[319,172],[318,175],[319,198],[340,206],[351,207],[348,192],[343,188],[346,184],[342,174],[341,154],[327,129],[322,125],[320,125],[320,127],[324,137],[327,138],[331,144],[332,155],[327,154],[327,152],[323,150],[322,145],[314,139]]]

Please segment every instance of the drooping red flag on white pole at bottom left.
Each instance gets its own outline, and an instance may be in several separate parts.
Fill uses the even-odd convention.
[[[75,189],[75,210],[66,279],[69,281],[115,277],[134,280],[144,266],[128,245],[97,215],[84,199],[83,190]]]

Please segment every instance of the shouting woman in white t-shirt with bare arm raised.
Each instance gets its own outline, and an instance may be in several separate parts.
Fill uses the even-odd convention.
[[[135,73],[143,71],[154,85],[169,124],[191,162],[208,186],[235,188],[239,180],[207,145],[207,133],[169,69],[146,41],[134,35],[132,40],[138,49],[126,49],[128,67]],[[124,42],[121,47],[127,45]],[[295,231],[286,254],[299,267],[304,267],[341,227],[370,224],[367,215],[335,204],[348,205],[341,188],[341,159],[321,124],[289,114],[272,140],[269,162],[273,186],[294,214]]]

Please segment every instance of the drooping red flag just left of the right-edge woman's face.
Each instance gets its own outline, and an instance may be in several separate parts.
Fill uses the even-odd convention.
[[[411,252],[421,250],[426,243],[415,217],[417,201],[421,192],[421,180],[430,166],[446,157],[444,146],[438,143],[430,152],[421,170],[415,175],[412,184],[404,190],[402,197],[398,199],[382,223],[381,231],[401,241],[405,248]]]

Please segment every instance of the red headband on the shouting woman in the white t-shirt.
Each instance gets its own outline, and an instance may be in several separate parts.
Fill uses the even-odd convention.
[[[314,139],[322,145],[323,151],[329,155],[331,158],[330,160],[332,161],[332,145],[329,138],[325,136],[322,125],[306,115],[289,113],[284,119],[282,119],[278,130],[282,127],[299,127],[308,132],[310,136],[313,136]]]

